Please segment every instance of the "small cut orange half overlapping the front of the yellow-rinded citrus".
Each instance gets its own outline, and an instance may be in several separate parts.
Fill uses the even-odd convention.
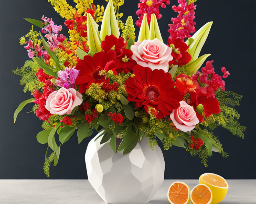
[[[205,184],[198,184],[190,194],[190,201],[193,204],[210,204],[212,201],[211,189]]]

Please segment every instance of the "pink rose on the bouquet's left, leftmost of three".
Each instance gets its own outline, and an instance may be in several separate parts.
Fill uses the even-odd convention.
[[[80,105],[82,102],[82,94],[74,88],[66,89],[62,87],[48,96],[45,108],[51,114],[71,114],[74,107]]]

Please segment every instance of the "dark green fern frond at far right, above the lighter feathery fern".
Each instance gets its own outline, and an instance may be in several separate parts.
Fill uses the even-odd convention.
[[[232,91],[222,91],[220,88],[215,92],[215,96],[219,101],[221,106],[223,105],[231,105],[231,106],[239,106],[240,100],[242,99],[242,95],[238,95]]]

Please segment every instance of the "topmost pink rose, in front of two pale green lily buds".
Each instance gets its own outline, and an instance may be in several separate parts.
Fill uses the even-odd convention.
[[[165,45],[157,38],[154,40],[143,40],[135,42],[131,46],[133,52],[132,59],[138,65],[154,69],[163,69],[168,72],[169,61],[173,60],[172,48]]]

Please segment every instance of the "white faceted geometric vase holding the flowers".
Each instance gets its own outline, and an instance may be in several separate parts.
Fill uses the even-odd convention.
[[[126,155],[114,154],[109,142],[100,145],[95,136],[88,144],[85,162],[88,180],[106,202],[111,204],[145,204],[151,200],[164,180],[165,162],[161,149],[152,151],[143,137]]]

